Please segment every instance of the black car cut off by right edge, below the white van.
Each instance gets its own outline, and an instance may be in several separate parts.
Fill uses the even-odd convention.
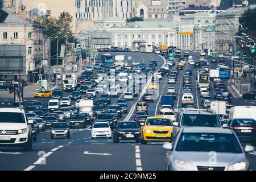
[[[256,121],[252,118],[236,118],[228,123],[241,142],[251,142],[256,144]]]

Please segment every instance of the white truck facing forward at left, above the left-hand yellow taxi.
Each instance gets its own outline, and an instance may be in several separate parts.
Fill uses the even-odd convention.
[[[62,77],[62,83],[63,83],[64,92],[76,90],[76,87],[77,87],[76,75],[73,73],[64,74]]]

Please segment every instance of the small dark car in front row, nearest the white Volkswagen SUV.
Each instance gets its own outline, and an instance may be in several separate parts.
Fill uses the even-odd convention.
[[[52,124],[51,139],[55,137],[70,138],[70,131],[66,122],[56,122]]]

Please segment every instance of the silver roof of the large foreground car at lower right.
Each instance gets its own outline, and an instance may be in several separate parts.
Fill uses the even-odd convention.
[[[220,133],[233,134],[232,130],[223,129],[221,127],[184,127],[183,133]]]

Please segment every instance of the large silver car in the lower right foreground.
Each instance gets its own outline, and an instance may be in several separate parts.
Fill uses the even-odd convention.
[[[164,143],[166,169],[171,171],[243,171],[249,169],[245,152],[236,134],[215,127],[185,127],[174,143]]]

